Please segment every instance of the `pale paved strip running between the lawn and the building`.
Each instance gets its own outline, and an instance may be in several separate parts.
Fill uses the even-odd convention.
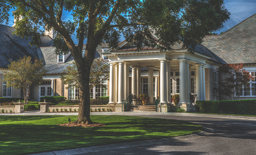
[[[78,113],[40,113],[40,111],[27,111],[24,113],[0,113],[1,115],[78,115]],[[209,117],[220,119],[241,119],[241,120],[254,120],[256,117],[251,116],[235,116],[235,115],[219,115],[219,114],[190,114],[190,113],[160,113],[160,112],[91,112],[91,115],[164,115],[164,116],[186,116],[186,117]]]

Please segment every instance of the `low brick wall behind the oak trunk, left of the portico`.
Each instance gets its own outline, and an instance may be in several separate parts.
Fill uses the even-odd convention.
[[[92,111],[95,111],[95,109],[98,109],[100,108],[101,111],[102,111],[102,108],[105,109],[105,111],[107,111],[107,108],[106,108],[107,105],[91,105],[91,109]],[[47,106],[47,111],[50,110],[50,112],[53,112],[53,109],[54,109],[54,112],[57,112],[56,109],[59,109],[59,112],[61,112],[60,109],[62,109],[62,111],[64,112],[65,110],[64,109],[67,109],[67,111],[69,112],[69,109],[71,109],[72,112],[74,112],[76,109],[76,112],[78,112],[78,109],[79,109],[79,105],[48,105]]]

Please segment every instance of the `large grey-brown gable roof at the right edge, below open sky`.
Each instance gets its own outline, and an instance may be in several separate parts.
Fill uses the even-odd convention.
[[[256,14],[222,35],[206,36],[203,45],[227,63],[256,63]]]

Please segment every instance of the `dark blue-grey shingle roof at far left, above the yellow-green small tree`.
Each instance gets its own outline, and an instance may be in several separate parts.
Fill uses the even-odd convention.
[[[29,44],[29,41],[20,36],[12,35],[15,28],[0,24],[0,67],[8,67],[9,60],[18,60],[20,57],[29,56],[32,59],[38,57],[37,47]],[[42,37],[43,46],[52,43],[49,36]]]

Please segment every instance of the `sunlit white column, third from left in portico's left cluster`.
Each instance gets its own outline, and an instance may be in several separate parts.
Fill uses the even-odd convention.
[[[124,63],[119,62],[118,72],[118,104],[122,103],[124,99]]]

